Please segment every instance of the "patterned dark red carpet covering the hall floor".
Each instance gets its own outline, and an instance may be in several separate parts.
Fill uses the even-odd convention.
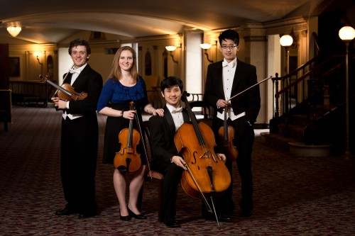
[[[54,215],[65,206],[59,172],[61,114],[54,108],[13,108],[9,131],[2,124],[0,130],[0,235],[355,235],[355,159],[295,157],[267,147],[258,135],[251,218],[239,218],[236,208],[233,220],[218,227],[200,217],[200,200],[180,189],[177,219],[182,227],[169,229],[158,223],[157,189],[146,183],[142,211],[148,220],[121,221],[112,167],[101,163],[106,119],[98,117],[100,213],[82,220]],[[236,203],[239,187],[234,181]]]

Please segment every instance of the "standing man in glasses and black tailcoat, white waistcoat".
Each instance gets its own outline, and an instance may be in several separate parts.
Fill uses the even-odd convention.
[[[254,142],[253,123],[258,117],[261,106],[259,86],[254,86],[240,96],[234,98],[233,96],[257,84],[256,67],[241,62],[236,57],[239,51],[239,33],[235,30],[224,30],[219,35],[219,45],[224,59],[209,64],[204,101],[214,108],[212,130],[214,130],[215,137],[218,137],[218,130],[224,125],[225,111],[227,111],[227,124],[236,131],[234,145],[239,153],[236,164],[241,178],[239,207],[241,208],[241,217],[249,217],[253,210],[251,173],[251,152]],[[229,109],[225,109],[226,107]],[[231,161],[226,162],[231,176],[232,164]],[[217,200],[216,205],[223,213],[233,212],[232,184]]]

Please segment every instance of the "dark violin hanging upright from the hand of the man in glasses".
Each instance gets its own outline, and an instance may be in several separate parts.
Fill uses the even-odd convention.
[[[224,125],[219,128],[218,135],[219,140],[222,140],[222,147],[226,154],[226,158],[229,161],[234,161],[236,160],[236,157],[238,157],[238,150],[236,150],[236,146],[234,146],[233,142],[236,130],[234,130],[233,126],[227,125],[226,123],[226,113],[229,108],[229,106],[224,107]]]

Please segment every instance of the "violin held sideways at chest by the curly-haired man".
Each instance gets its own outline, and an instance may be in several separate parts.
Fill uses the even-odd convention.
[[[57,96],[64,101],[70,101],[70,100],[84,100],[87,98],[87,93],[81,92],[77,93],[75,89],[70,85],[70,84],[62,84],[62,86],[58,86],[58,84],[55,84],[48,80],[48,76],[43,76],[43,74],[40,74],[38,77],[40,77],[40,82],[43,83],[48,83],[52,86],[55,87],[55,89],[58,89]]]

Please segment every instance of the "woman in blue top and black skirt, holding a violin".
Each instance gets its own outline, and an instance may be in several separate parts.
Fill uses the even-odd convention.
[[[129,103],[133,101],[136,111],[130,111]],[[163,116],[162,109],[155,109],[148,103],[146,83],[138,75],[136,64],[136,52],[132,47],[124,46],[117,50],[112,62],[109,79],[102,89],[97,103],[97,112],[107,116],[107,123],[104,135],[104,164],[113,164],[116,152],[121,150],[119,133],[124,128],[129,128],[129,121],[138,117],[143,127],[141,111],[156,116]],[[136,120],[133,128],[138,130]],[[146,155],[141,145],[138,145],[137,152],[141,154],[141,167],[138,171],[131,173],[129,184],[129,202],[126,203],[126,172],[114,169],[114,189],[119,199],[120,219],[131,220],[146,219],[137,208],[138,196],[143,186],[146,174]]]

